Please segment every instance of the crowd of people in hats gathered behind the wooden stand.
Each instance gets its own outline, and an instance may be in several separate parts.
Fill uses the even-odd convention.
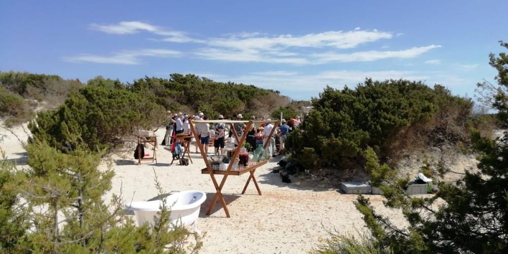
[[[162,145],[171,146],[174,142],[175,136],[191,136],[190,132],[190,119],[195,120],[209,120],[209,118],[203,113],[198,112],[196,115],[172,113],[171,111],[167,111],[167,120],[166,120],[166,135],[164,137]],[[219,115],[217,120],[224,120],[223,115]],[[233,119],[230,120],[244,120],[242,114],[236,115]],[[252,116],[250,120],[256,120],[255,116]],[[262,121],[271,121],[269,118],[263,117]],[[274,127],[273,123],[267,122],[262,123],[260,125],[252,124],[250,130],[245,130],[246,124],[245,122],[235,122],[233,123],[233,128],[236,131],[238,137],[241,137],[244,131],[247,132],[246,142],[250,144],[250,150],[256,149],[258,145],[263,145],[265,142],[268,142],[267,152],[271,155],[275,153],[275,137],[279,137],[280,145],[279,149],[283,150],[285,138],[287,135],[295,130],[299,124],[301,124],[300,116],[295,116],[295,118],[291,118],[286,121],[285,119],[281,119],[281,125],[278,126],[277,130],[274,132],[273,136],[270,137],[270,133]],[[199,135],[199,139],[201,144],[203,144],[204,152],[208,153],[208,145],[210,143],[211,137],[213,138],[213,146],[214,146],[214,154],[224,154],[225,145],[227,141],[227,137],[233,137],[233,130],[229,128],[229,125],[226,122],[215,122],[210,126],[209,123],[206,122],[198,122],[194,124],[194,128]],[[235,146],[238,145],[236,139]],[[196,142],[196,152],[198,152],[198,143]]]

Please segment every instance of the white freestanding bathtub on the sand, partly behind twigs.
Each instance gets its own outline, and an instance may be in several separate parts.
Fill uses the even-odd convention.
[[[171,210],[171,220],[175,225],[194,225],[197,231],[197,220],[201,204],[205,202],[206,194],[198,190],[185,190],[166,197],[166,206]],[[138,226],[145,222],[153,225],[153,216],[157,214],[162,200],[141,201],[126,204],[125,209],[134,211]]]

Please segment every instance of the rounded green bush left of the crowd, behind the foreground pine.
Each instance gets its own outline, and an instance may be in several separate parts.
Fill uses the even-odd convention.
[[[39,113],[29,130],[37,140],[67,150],[73,140],[96,150],[134,135],[138,129],[162,125],[165,111],[141,93],[131,92],[119,81],[92,79],[73,93],[57,110]]]

